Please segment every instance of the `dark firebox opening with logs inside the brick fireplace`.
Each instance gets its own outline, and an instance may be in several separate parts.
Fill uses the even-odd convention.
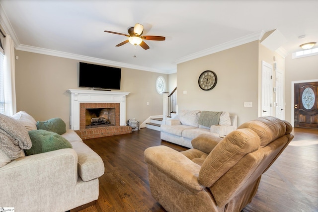
[[[86,108],[85,129],[115,126],[115,108]]]

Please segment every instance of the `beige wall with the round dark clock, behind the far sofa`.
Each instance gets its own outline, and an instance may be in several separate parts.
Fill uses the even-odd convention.
[[[178,64],[178,110],[228,111],[238,115],[238,124],[257,118],[258,45],[254,41]],[[218,77],[217,85],[209,91],[198,85],[199,75],[206,70]],[[244,101],[253,106],[244,107]]]

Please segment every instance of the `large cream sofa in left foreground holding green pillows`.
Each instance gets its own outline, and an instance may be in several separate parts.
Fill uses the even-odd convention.
[[[26,129],[26,135],[36,130],[35,120],[27,113],[20,111],[13,117]],[[2,124],[3,118],[1,115]],[[25,135],[24,130],[19,131]],[[0,146],[0,207],[12,207],[16,212],[66,212],[98,199],[102,159],[73,130],[61,136],[72,148],[28,156],[21,150],[21,155],[12,159]]]

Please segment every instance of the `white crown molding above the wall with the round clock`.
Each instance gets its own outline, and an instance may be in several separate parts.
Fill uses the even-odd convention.
[[[184,63],[184,62],[187,62],[187,61],[190,61],[193,59],[197,59],[197,58],[200,58],[203,56],[211,55],[213,53],[221,52],[223,50],[227,50],[227,49],[230,49],[230,48],[242,45],[242,44],[246,44],[246,43],[249,43],[249,42],[252,42],[255,40],[260,40],[264,34],[265,34],[265,32],[263,30],[260,32],[255,32],[255,33],[240,37],[238,39],[235,39],[235,40],[232,40],[232,41],[229,41],[229,42],[226,42],[226,43],[223,43],[223,44],[220,44],[220,45],[217,45],[217,46],[205,49],[205,50],[202,50],[200,52],[184,56],[182,58],[175,60],[174,63],[176,63],[176,64]]]

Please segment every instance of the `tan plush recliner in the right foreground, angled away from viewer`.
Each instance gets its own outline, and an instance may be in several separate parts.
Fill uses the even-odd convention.
[[[260,117],[224,139],[203,134],[193,148],[145,150],[150,189],[168,212],[239,212],[255,196],[264,173],[294,138],[292,126]]]

